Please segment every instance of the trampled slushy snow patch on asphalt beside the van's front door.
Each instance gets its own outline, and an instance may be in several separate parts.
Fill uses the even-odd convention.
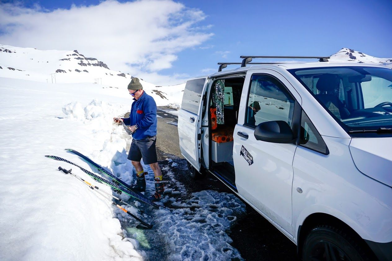
[[[173,209],[155,212],[159,231],[166,235],[169,260],[242,260],[227,235],[246,213],[233,194],[216,191],[192,193],[186,203],[173,202]]]

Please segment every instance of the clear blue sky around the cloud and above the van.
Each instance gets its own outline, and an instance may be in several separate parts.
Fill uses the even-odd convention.
[[[213,35],[173,51],[176,58],[170,59],[171,68],[159,70],[160,75],[186,78],[212,73],[218,68],[216,63],[240,61],[240,55],[329,56],[343,47],[379,58],[392,57],[390,0],[176,2],[205,16],[189,30]],[[99,3],[22,1],[25,7],[39,4],[49,11]]]

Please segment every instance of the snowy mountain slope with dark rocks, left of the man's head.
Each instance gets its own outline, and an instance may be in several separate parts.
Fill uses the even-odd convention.
[[[124,85],[132,76],[110,70],[97,58],[74,51],[37,50],[0,45],[0,77],[56,83]],[[54,83],[53,78],[53,83]]]

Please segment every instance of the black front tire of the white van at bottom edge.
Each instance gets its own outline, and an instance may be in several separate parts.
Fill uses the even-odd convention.
[[[302,260],[371,260],[361,239],[344,230],[318,225],[310,230],[302,248]]]

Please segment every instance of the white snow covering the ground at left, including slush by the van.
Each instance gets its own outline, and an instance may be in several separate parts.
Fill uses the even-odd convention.
[[[125,150],[131,137],[113,124],[113,117],[130,110],[127,83],[121,88],[86,82],[52,84],[13,78],[13,72],[9,70],[12,77],[0,77],[0,260],[153,260],[162,252],[169,260],[241,259],[228,236],[245,212],[234,195],[201,191],[178,203],[181,192],[167,188],[159,204],[171,207],[155,210],[114,193],[75,166],[44,157],[62,157],[97,173],[64,150],[75,149],[133,183],[135,170]],[[180,100],[181,91],[165,91],[169,103]],[[153,97],[158,104],[165,101]],[[136,229],[138,221],[80,180],[56,171],[59,166],[72,168],[101,191],[133,204],[122,207],[152,223],[153,229]],[[143,167],[150,195],[154,174],[149,166]]]

